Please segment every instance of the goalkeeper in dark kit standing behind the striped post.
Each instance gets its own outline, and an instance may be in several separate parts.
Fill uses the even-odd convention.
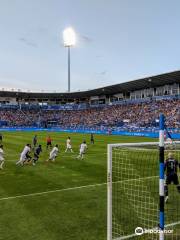
[[[172,153],[168,154],[168,158],[165,162],[164,171],[166,174],[166,181],[165,181],[165,202],[168,201],[168,186],[169,184],[173,183],[176,185],[178,192],[180,193],[180,185],[178,179],[178,168],[180,169],[180,163],[174,158]]]

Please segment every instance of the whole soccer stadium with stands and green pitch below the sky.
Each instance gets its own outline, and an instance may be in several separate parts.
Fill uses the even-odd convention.
[[[158,143],[145,143],[158,141],[163,113],[164,135],[170,139],[165,157],[171,151],[180,161],[175,143],[180,138],[179,93],[180,71],[86,92],[1,91],[5,165],[0,172],[0,201],[6,226],[1,228],[2,239],[106,239],[109,143],[134,143],[112,152],[113,239],[137,239],[133,234],[136,225],[157,227]],[[52,149],[48,137],[59,147],[54,164],[46,161]],[[82,141],[88,148],[81,159],[78,148]],[[18,166],[27,143],[32,145],[30,159]],[[34,161],[33,151],[39,144],[42,153]],[[169,187],[169,195],[166,225],[173,228],[173,239],[179,239],[176,186]],[[136,219],[132,219],[134,215]],[[9,225],[16,227],[8,230]],[[151,234],[141,239],[156,237]]]

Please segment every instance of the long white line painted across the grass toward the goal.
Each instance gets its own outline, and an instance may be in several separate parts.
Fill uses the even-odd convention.
[[[121,181],[117,181],[117,182],[113,182],[113,183],[129,182],[129,181],[150,179],[150,178],[156,178],[156,177],[158,177],[158,176],[135,178],[135,179],[126,179],[126,180],[121,180]],[[10,196],[10,197],[3,197],[3,198],[0,198],[0,201],[11,200],[11,199],[16,199],[16,198],[41,196],[41,195],[45,195],[45,194],[49,194],[49,193],[66,192],[66,191],[78,190],[78,189],[83,189],[83,188],[93,188],[93,187],[99,187],[99,186],[103,186],[103,185],[107,185],[107,184],[108,184],[107,182],[96,183],[96,184],[84,185],[84,186],[79,186],[79,187],[62,188],[62,189],[56,189],[56,190],[50,190],[50,191],[44,191],[44,192],[37,192],[37,193],[22,194],[22,195]]]

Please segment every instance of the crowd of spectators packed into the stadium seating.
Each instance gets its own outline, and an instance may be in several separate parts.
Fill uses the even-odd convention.
[[[78,127],[153,127],[164,113],[169,128],[179,128],[180,99],[146,103],[106,105],[85,110],[5,110],[0,120],[8,126],[33,126],[50,122],[65,128]]]

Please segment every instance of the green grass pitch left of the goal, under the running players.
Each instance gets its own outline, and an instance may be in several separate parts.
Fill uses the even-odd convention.
[[[39,132],[43,153],[36,166],[17,167],[15,162],[33,132],[5,132],[5,168],[0,171],[0,240],[104,240],[106,239],[106,185],[51,192],[43,195],[4,199],[45,191],[75,188],[106,182],[107,143],[144,142],[154,139],[50,133],[60,145],[56,163],[45,163],[46,132]],[[67,136],[74,153],[64,153]],[[83,161],[75,157],[79,144],[86,139],[88,153]],[[157,160],[158,161],[158,160]],[[130,216],[131,217],[131,216]]]

